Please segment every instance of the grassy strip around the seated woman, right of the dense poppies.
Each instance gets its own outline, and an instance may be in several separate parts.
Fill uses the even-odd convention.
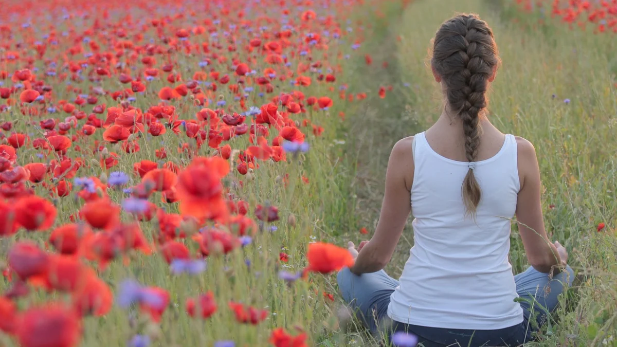
[[[535,144],[547,232],[570,250],[570,263],[578,272],[577,288],[569,291],[558,322],[552,322],[537,345],[617,346],[617,92],[615,62],[608,53],[617,48],[610,37],[559,25],[540,31],[534,18],[499,1],[445,0],[439,6],[416,1],[401,17],[392,17],[382,28],[386,40],[376,43],[373,54],[373,64],[387,61],[389,68],[375,67],[366,81],[387,81],[394,88],[385,106],[369,108],[350,122],[349,148],[358,159],[358,222],[372,233],[395,141],[428,127],[441,112],[441,95],[425,62],[434,31],[455,12],[478,13],[494,28],[503,65],[492,86],[491,120],[503,132]],[[600,223],[605,228],[598,232]],[[363,236],[352,230],[341,237],[356,241]],[[511,241],[511,261],[519,272],[528,264],[515,223]],[[407,228],[386,269],[391,275],[400,274],[411,243]]]

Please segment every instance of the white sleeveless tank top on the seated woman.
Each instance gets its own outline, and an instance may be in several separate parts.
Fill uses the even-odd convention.
[[[510,220],[520,190],[516,139],[476,162],[482,190],[476,220],[465,217],[461,186],[468,162],[437,154],[415,136],[413,241],[388,316],[424,327],[493,330],[523,322],[510,251]]]

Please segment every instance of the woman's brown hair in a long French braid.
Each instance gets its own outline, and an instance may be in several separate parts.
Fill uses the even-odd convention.
[[[479,115],[487,106],[487,87],[498,64],[492,30],[477,15],[457,15],[437,30],[431,65],[445,84],[450,112],[463,122],[465,156],[471,164],[462,194],[466,214],[473,216],[482,196],[473,173],[480,144]]]

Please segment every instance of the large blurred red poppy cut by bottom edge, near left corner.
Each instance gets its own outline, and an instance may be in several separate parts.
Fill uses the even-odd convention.
[[[80,319],[70,307],[32,307],[17,318],[15,337],[23,347],[72,347],[81,338]]]

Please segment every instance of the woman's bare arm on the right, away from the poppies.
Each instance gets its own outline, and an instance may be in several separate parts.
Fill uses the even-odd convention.
[[[516,202],[518,230],[523,240],[529,264],[539,272],[557,275],[562,262],[557,247],[549,240],[544,229],[542,205],[540,203],[540,169],[536,149],[531,142],[517,137],[518,171],[521,190]]]

